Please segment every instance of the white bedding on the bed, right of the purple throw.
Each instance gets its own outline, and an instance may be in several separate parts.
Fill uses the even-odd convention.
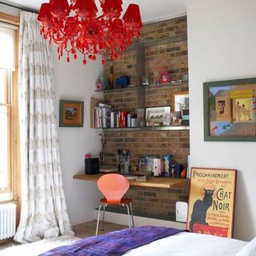
[[[128,251],[126,256],[235,256],[247,242],[182,232]],[[246,254],[244,254],[246,255]]]

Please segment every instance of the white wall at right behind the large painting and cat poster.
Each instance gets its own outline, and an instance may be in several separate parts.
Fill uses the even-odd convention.
[[[255,0],[188,7],[191,166],[238,170],[234,237],[256,236],[256,142],[204,142],[202,82],[256,77]]]

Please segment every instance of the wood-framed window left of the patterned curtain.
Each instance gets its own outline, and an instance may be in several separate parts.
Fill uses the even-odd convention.
[[[17,56],[18,26],[1,22],[0,15],[0,202],[15,199],[17,171]],[[16,130],[16,131],[15,131]],[[14,157],[15,156],[15,157]]]

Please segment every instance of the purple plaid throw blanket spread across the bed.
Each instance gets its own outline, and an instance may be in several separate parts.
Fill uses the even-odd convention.
[[[125,254],[128,250],[182,231],[185,230],[160,226],[134,227],[102,234],[97,237],[84,238],[68,246],[49,250],[40,256],[119,256]]]

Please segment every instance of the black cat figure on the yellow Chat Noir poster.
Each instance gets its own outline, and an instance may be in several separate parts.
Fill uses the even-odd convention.
[[[209,207],[213,204],[214,190],[205,190],[202,200],[198,199],[194,202],[193,211],[190,220],[190,231],[194,232],[193,226],[195,223],[208,225],[206,222],[206,213]]]

